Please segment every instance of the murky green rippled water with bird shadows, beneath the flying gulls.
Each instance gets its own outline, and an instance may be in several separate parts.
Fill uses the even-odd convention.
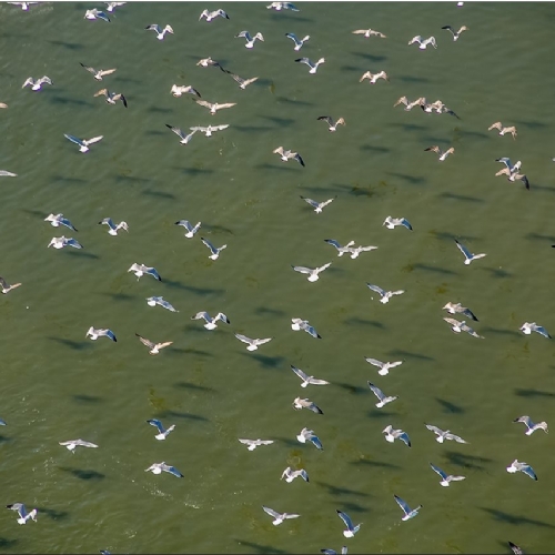
[[[7,553],[528,553],[553,551],[555,455],[542,431],[524,435],[512,420],[528,414],[553,424],[553,343],[518,327],[535,321],[555,333],[555,200],[552,3],[317,3],[274,12],[265,3],[129,2],[112,22],[88,21],[93,3],[43,2],[23,12],[0,6],[1,275],[22,286],[2,296],[2,503],[39,508],[18,526],[4,511]],[[205,8],[230,20],[198,21]],[[157,41],[150,23],[175,33]],[[441,29],[466,24],[453,42]],[[372,27],[387,39],[351,33]],[[261,31],[253,50],[234,36]],[[283,34],[310,34],[301,52]],[[407,46],[415,34],[437,50]],[[243,78],[246,90],[211,56]],[[325,57],[316,74],[294,63]],[[117,68],[101,83],[80,62]],[[385,70],[390,82],[359,83]],[[48,74],[40,92],[21,84]],[[236,107],[212,117],[191,95]],[[93,98],[122,92],[124,109]],[[448,114],[393,108],[441,99]],[[330,133],[322,114],[343,117]],[[516,125],[517,139],[487,131]],[[228,123],[186,147],[165,124]],[[63,138],[102,134],[81,154]],[[272,154],[282,144],[306,167]],[[426,147],[456,152],[438,162]],[[532,189],[494,178],[509,157],[522,160]],[[299,196],[336,200],[315,214]],[[51,228],[62,212],[78,228]],[[414,232],[389,231],[386,215]],[[98,222],[129,224],[117,238]],[[202,221],[183,238],[180,219]],[[75,236],[82,251],[47,249]],[[200,235],[228,244],[212,262]],[[374,244],[339,259],[324,243]],[[453,241],[487,256],[463,264]],[[133,262],[155,266],[162,283],[139,282]],[[316,283],[293,272],[332,262]],[[405,293],[379,303],[365,283]],[[150,307],[163,295],[178,313]],[[453,334],[442,306],[462,302],[485,340]],[[190,316],[224,312],[208,332]],[[321,341],[291,330],[303,317]],[[90,325],[118,336],[85,340]],[[173,341],[149,356],[135,333]],[[249,353],[234,333],[273,337]],[[364,356],[403,360],[387,376]],[[293,364],[331,385],[300,387]],[[370,380],[398,400],[376,410]],[[295,396],[324,411],[295,412]],[[145,420],[175,424],[165,442]],[[470,443],[438,444],[424,423]],[[412,448],[386,443],[387,425],[405,430]],[[307,426],[324,451],[296,442]],[[98,450],[72,455],[58,442],[82,437]],[[249,452],[238,437],[275,443]],[[538,475],[511,475],[514,458]],[[155,476],[154,462],[184,480]],[[428,462],[466,481],[438,484]],[[310,484],[286,484],[286,466]],[[397,494],[417,518],[401,522]],[[301,517],[272,526],[262,505]],[[335,509],[363,525],[342,536]]]

